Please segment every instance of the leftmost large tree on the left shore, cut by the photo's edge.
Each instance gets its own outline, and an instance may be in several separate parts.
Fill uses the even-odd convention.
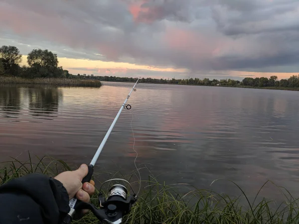
[[[3,63],[6,73],[16,75],[17,68],[22,61],[22,55],[17,47],[3,45],[0,47],[0,61]]]

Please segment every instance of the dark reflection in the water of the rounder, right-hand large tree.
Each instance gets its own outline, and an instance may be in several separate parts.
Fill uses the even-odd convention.
[[[59,101],[62,91],[58,88],[32,88],[27,90],[29,98],[29,112],[39,119],[53,119],[57,117]]]

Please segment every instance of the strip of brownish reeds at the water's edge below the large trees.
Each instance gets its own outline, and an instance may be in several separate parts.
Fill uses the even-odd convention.
[[[24,79],[20,77],[0,76],[0,84],[30,84],[30,85],[51,85],[51,86],[77,86],[77,87],[101,87],[98,80],[80,80],[64,78],[34,78]]]

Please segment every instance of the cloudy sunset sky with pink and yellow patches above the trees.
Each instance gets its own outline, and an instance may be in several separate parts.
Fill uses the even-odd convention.
[[[299,74],[299,0],[0,0],[0,45],[72,74],[163,79]]]

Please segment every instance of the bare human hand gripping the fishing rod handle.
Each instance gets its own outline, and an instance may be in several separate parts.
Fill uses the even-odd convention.
[[[82,164],[79,169],[75,171],[65,171],[63,173],[58,174],[54,179],[60,181],[64,188],[66,189],[69,199],[76,198],[82,202],[89,203],[90,196],[95,193],[95,182],[93,180],[90,183],[86,182],[82,184],[83,178],[88,173],[88,167],[86,164]],[[84,211],[84,214],[87,213],[88,210]]]

